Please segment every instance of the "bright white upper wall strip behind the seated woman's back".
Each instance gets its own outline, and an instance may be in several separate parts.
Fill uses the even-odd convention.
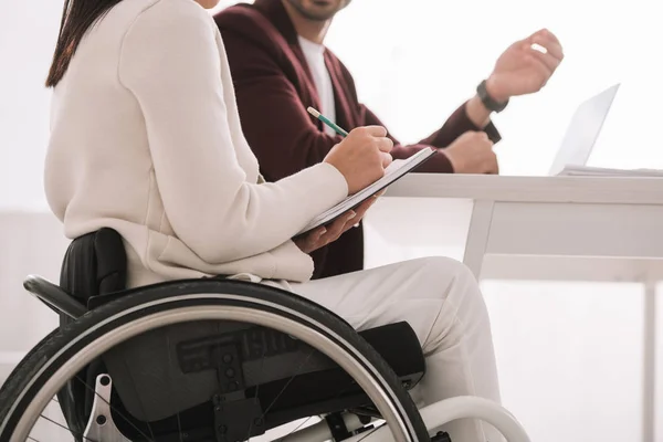
[[[0,208],[42,207],[46,80],[61,1],[0,1]]]

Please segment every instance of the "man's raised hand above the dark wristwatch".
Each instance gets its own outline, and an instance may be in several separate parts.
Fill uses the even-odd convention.
[[[535,49],[533,45],[540,48]],[[486,92],[499,103],[516,95],[538,92],[548,83],[562,60],[559,40],[550,31],[543,29],[504,51],[486,81]]]

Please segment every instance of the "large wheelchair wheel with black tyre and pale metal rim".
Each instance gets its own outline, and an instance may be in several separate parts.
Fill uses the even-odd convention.
[[[44,338],[0,390],[0,441],[43,440],[32,431],[40,420],[51,421],[44,410],[54,396],[91,361],[118,345],[161,327],[206,320],[269,327],[306,343],[354,379],[396,441],[430,440],[417,407],[391,368],[344,320],[284,291],[209,280],[133,291]]]

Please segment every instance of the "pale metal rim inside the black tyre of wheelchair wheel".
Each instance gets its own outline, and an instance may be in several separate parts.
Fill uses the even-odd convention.
[[[157,312],[147,315],[141,318],[137,318],[127,324],[123,324],[117,328],[114,328],[112,333],[104,333],[102,336],[95,338],[87,345],[85,345],[80,351],[77,351],[72,358],[66,360],[62,366],[53,372],[53,375],[44,382],[40,390],[35,393],[31,403],[25,408],[25,411],[19,419],[13,433],[11,435],[11,442],[23,442],[34,425],[40,412],[45,408],[51,398],[62,388],[64,382],[69,379],[69,375],[75,373],[81,370],[94,358],[99,357],[108,349],[114,346],[140,335],[141,333],[173,325],[178,323],[187,323],[193,320],[233,320],[233,322],[246,322],[264,327],[270,327],[280,330],[285,334],[290,334],[297,339],[303,340],[309,346],[316,348],[318,351],[325,354],[336,364],[339,365],[350,377],[357,381],[357,383],[364,389],[366,394],[372,400],[373,404],[378,408],[383,419],[387,421],[391,433],[398,442],[410,442],[415,441],[415,432],[412,428],[409,419],[403,419],[404,410],[402,409],[398,399],[393,396],[393,392],[386,390],[388,387],[385,379],[375,369],[371,369],[371,365],[359,354],[352,346],[345,341],[341,337],[329,330],[328,327],[319,324],[318,322],[303,315],[299,312],[277,305],[264,299],[248,299],[244,296],[238,295],[221,295],[221,294],[204,294],[204,295],[185,295],[173,296],[169,298],[158,299],[138,306],[122,311],[110,317],[106,318],[98,324],[86,329],[83,334],[67,343],[61,348],[56,355],[51,357],[46,364],[44,364],[40,370],[32,377],[30,382],[23,388],[21,393],[17,397],[14,406],[7,414],[6,421],[0,427],[0,434],[6,431],[7,421],[15,412],[15,407],[24,398],[27,392],[32,388],[35,380],[44,375],[49,370],[50,366],[56,361],[63,352],[70,349],[73,345],[76,345],[81,339],[86,338],[92,333],[95,333],[98,328],[104,327],[122,317],[129,315],[138,309],[145,309],[155,307],[168,303],[178,303],[182,301],[192,299],[214,299],[214,301],[241,301],[243,303],[257,304],[263,307],[271,307],[281,312],[287,313],[288,315],[297,316],[316,328],[324,329],[324,332],[334,337],[338,343],[335,343],[332,338],[323,335],[313,327],[306,327],[301,323],[284,317],[282,315],[265,312],[260,309],[253,309],[249,307],[231,306],[231,305],[203,305],[203,306],[189,306],[189,307],[175,307],[164,312]],[[389,394],[388,394],[389,392]]]

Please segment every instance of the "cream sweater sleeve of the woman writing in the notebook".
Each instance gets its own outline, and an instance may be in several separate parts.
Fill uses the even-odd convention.
[[[223,263],[276,249],[348,190],[328,164],[274,183],[246,181],[233,145],[232,131],[241,128],[229,123],[232,84],[215,27],[198,4],[182,4],[168,13],[156,6],[136,19],[124,38],[118,75],[143,112],[175,233],[204,261]]]

